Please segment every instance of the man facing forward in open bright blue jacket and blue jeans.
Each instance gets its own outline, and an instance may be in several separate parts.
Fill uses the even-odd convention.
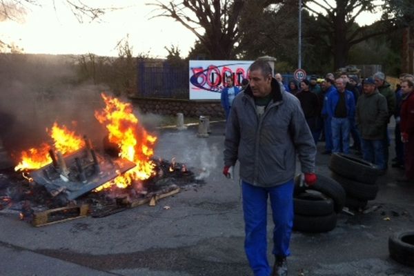
[[[349,121],[355,117],[355,99],[353,93],[345,89],[344,79],[335,80],[337,90],[329,93],[326,111],[331,117],[333,152],[349,154]]]

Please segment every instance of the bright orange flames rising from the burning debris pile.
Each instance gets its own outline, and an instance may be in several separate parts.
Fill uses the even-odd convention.
[[[104,94],[101,96],[106,107],[95,111],[95,117],[108,130],[110,143],[117,144],[119,157],[134,162],[136,166],[123,175],[119,172],[118,177],[99,186],[95,191],[110,188],[113,185],[126,188],[133,180],[144,180],[155,175],[155,164],[151,157],[154,155],[153,148],[157,137],[149,135],[139,124],[130,103],[124,103]],[[63,155],[85,146],[85,141],[75,135],[75,132],[71,132],[66,126],[59,127],[56,122],[50,131],[47,128],[46,131],[54,141],[54,150],[60,151]],[[52,146],[43,143],[39,148],[30,148],[21,152],[21,161],[14,170],[37,169],[50,164],[52,162],[49,154],[51,149]]]

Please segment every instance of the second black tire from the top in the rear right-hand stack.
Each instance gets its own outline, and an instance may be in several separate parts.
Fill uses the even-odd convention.
[[[331,177],[335,179],[344,188],[346,195],[361,200],[373,200],[377,197],[378,185],[365,184],[352,179],[338,175],[332,172]]]

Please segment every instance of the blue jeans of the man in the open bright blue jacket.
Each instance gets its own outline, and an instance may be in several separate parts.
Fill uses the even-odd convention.
[[[332,118],[332,141],[333,152],[349,153],[349,119],[348,118]]]

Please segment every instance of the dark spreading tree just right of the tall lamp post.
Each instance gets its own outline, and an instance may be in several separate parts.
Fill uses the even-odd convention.
[[[384,0],[382,3],[371,0],[305,0],[304,8],[317,15],[320,28],[317,35],[328,37],[335,70],[346,65],[352,46],[402,28],[412,21],[408,14],[413,12],[410,0]],[[370,26],[359,26],[355,22],[362,12],[380,11],[383,12],[382,18]]]

